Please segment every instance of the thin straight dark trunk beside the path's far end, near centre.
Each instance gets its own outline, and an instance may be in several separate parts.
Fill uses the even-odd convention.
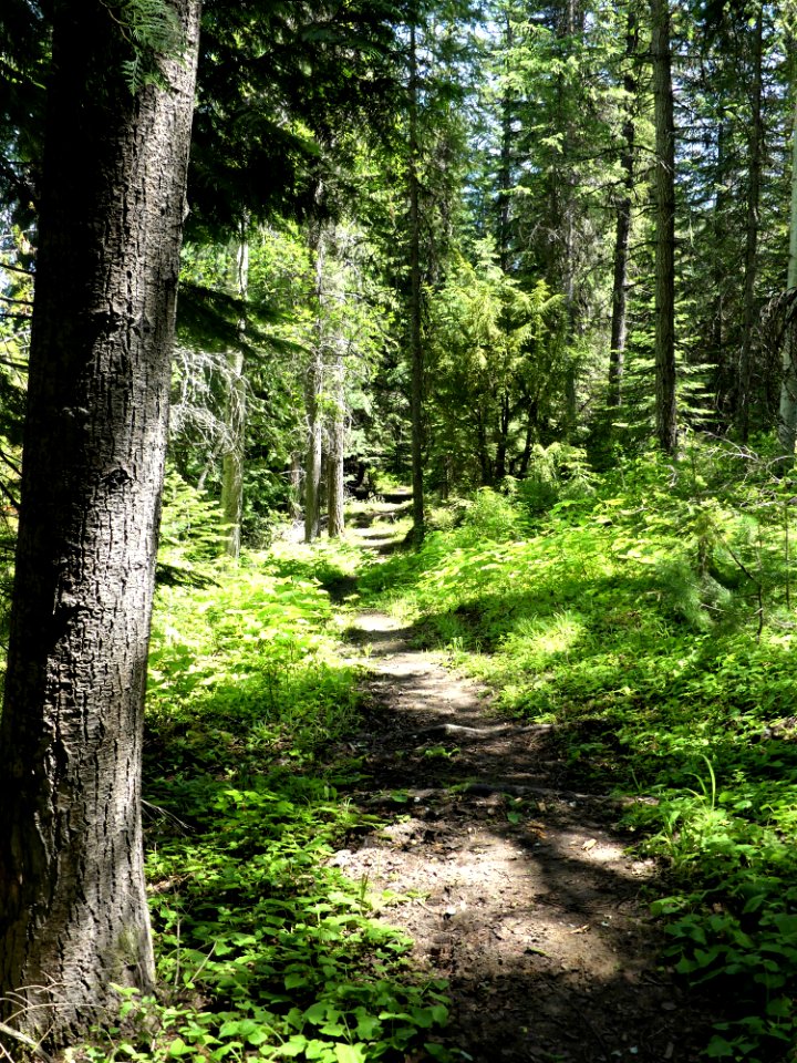
[[[418,71],[415,24],[410,27],[410,349],[412,384],[410,409],[412,420],[413,538],[421,546],[425,533],[423,483],[423,393],[424,350],[421,329],[421,183],[418,178]]]

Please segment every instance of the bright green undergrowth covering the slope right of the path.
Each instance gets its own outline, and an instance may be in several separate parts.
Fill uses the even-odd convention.
[[[555,722],[573,784],[635,798],[624,826],[667,870],[653,908],[670,962],[734,1001],[705,1057],[790,1059],[795,485],[705,445],[542,479],[479,493],[361,589],[392,596],[506,713]]]

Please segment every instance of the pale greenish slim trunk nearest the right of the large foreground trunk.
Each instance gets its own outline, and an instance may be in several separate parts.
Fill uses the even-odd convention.
[[[249,242],[247,221],[236,249],[235,289],[241,302],[238,318],[239,343],[227,352],[229,393],[227,395],[227,446],[221,458],[221,513],[227,527],[225,550],[238,560],[240,556],[240,526],[244,515],[244,454],[246,443],[246,378],[244,375],[244,341],[246,339],[246,300],[249,291]]]

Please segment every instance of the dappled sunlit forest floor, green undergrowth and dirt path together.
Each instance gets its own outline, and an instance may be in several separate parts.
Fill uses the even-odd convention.
[[[714,982],[784,1000],[789,628],[694,615],[677,497],[652,539],[611,484],[538,534],[487,502],[421,551],[374,556],[382,523],[162,589],[149,866],[163,970],[205,1001],[186,1044],[691,1063],[738,1038]]]

